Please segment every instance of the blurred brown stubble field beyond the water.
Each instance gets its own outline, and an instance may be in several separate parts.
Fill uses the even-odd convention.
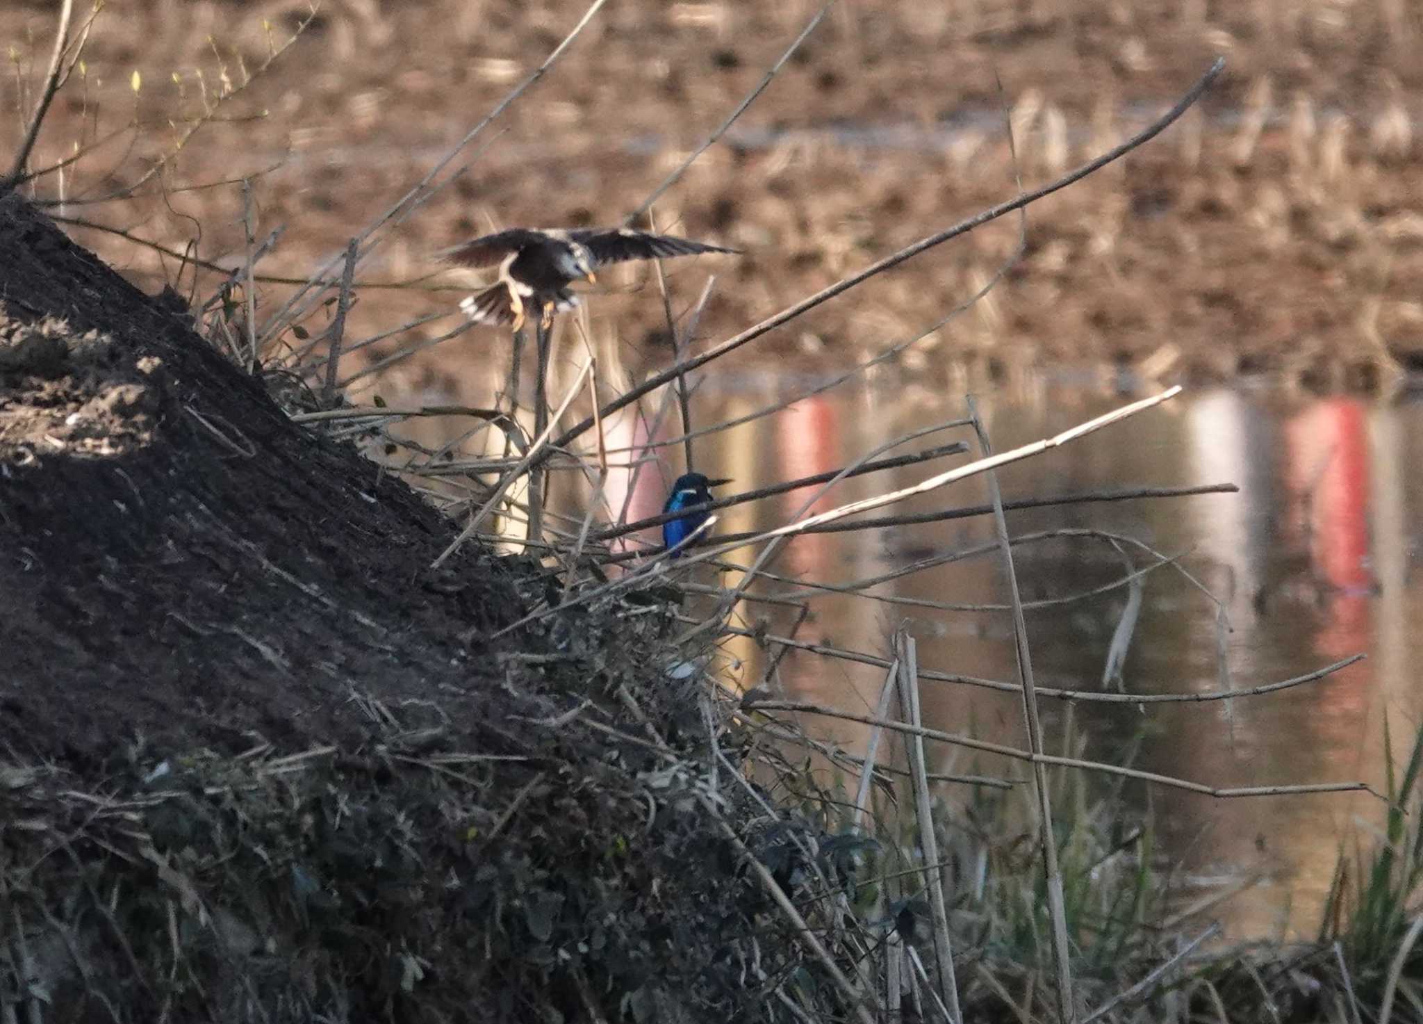
[[[16,138],[43,78],[55,7],[0,10],[11,57],[0,101]],[[333,3],[253,74],[306,7],[111,3],[31,167],[83,155],[33,191],[73,221],[175,252],[194,246],[236,268],[246,246],[240,179],[250,177],[256,236],[283,226],[258,271],[306,278],[585,10]],[[474,142],[460,179],[361,266],[350,336],[454,309],[464,291],[428,276],[434,249],[511,225],[619,222],[815,10],[608,4]],[[1091,363],[1150,379],[1268,373],[1315,387],[1396,379],[1423,367],[1419,38],[1420,19],[1403,0],[841,3],[656,204],[659,229],[746,249],[739,259],[669,263],[673,309],[686,310],[716,275],[699,335],[724,338],[1009,198],[1015,174],[1032,187],[1109,148],[1224,56],[1218,87],[1181,124],[1035,204],[1023,259],[988,299],[905,353],[904,367],[952,377]],[[105,198],[164,161],[205,108],[211,122],[137,197]],[[73,231],[149,291],[178,275],[178,259],[131,238]],[[741,365],[865,359],[968,298],[1017,238],[1019,222],[1006,218],[928,252],[758,342]],[[215,281],[203,275],[196,292]],[[413,281],[420,286],[376,286]],[[192,288],[189,275],[182,283]],[[282,295],[269,283],[260,302],[270,309]],[[601,276],[589,305],[595,336],[632,370],[665,362],[649,268]],[[400,332],[350,366],[453,323]],[[501,340],[477,328],[403,365],[397,383],[458,393],[461,375]]]

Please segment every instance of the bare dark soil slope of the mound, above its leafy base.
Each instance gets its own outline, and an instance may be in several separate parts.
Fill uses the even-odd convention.
[[[441,517],[14,198],[0,265],[0,742],[332,741],[361,689],[485,711],[453,638],[518,614],[499,563],[428,578]]]

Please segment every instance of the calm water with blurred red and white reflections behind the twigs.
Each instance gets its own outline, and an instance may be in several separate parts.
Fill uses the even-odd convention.
[[[744,414],[774,395],[699,393],[699,422]],[[996,450],[1052,436],[1107,412],[1120,399],[1074,387],[986,393],[979,399]],[[737,489],[838,467],[878,444],[963,413],[961,402],[899,387],[804,400],[778,416],[700,442],[699,469],[734,477]],[[936,444],[963,432],[915,443]],[[1136,538],[1183,555],[1192,580],[1171,567],[1143,577],[1141,608],[1124,664],[1127,692],[1192,694],[1275,682],[1352,654],[1368,659],[1326,681],[1262,696],[1185,704],[1077,704],[1083,756],[1118,762],[1136,749],[1136,768],[1212,786],[1261,786],[1363,779],[1383,785],[1383,723],[1395,759],[1406,758],[1423,711],[1416,665],[1423,635],[1423,580],[1414,573],[1423,543],[1423,402],[1372,403],[1355,397],[1291,400],[1249,390],[1185,393],[1124,424],[1109,427],[1002,473],[1006,498],[1130,486],[1235,483],[1238,494],[1077,504],[1009,513],[1013,535],[1077,528]],[[710,442],[710,443],[709,443]],[[968,456],[961,456],[965,460]],[[845,481],[811,511],[904,487],[948,460]],[[643,506],[663,486],[647,474]],[[723,513],[723,533],[766,528],[801,513],[813,491]],[[921,496],[902,511],[931,511],[986,498],[979,481]],[[878,513],[882,514],[882,513]],[[845,584],[990,537],[986,517],[794,540],[773,564],[800,580]],[[1025,601],[1070,597],[1124,577],[1154,558],[1126,555],[1093,537],[1059,537],[1016,548]],[[740,561],[750,561],[746,551]],[[734,581],[734,574],[727,582]],[[1197,587],[1208,588],[1215,600]],[[778,591],[804,590],[790,584]],[[1003,602],[1002,564],[980,557],[902,577],[869,594],[959,604]],[[1101,688],[1113,631],[1128,591],[1029,608],[1027,627],[1040,686]],[[884,655],[904,622],[919,644],[921,667],[992,679],[1016,679],[1010,618],[1003,611],[943,611],[871,602],[842,594],[811,597],[814,617],[797,638]],[[750,605],[784,634],[794,612]],[[764,662],[747,639],[733,644],[744,685]],[[791,695],[872,714],[884,671],[791,652],[780,681]],[[1012,695],[925,682],[926,725],[1025,746],[1020,705]],[[1049,743],[1062,748],[1062,702],[1047,701]],[[867,729],[818,719],[817,728],[850,749]],[[1138,746],[1134,746],[1138,743]],[[938,748],[939,768],[975,762],[970,752]],[[1147,799],[1131,783],[1134,799]],[[1339,843],[1382,822],[1382,805],[1355,793],[1210,799],[1154,788],[1150,800],[1164,832],[1161,849],[1184,860],[1185,879],[1208,889],[1228,877],[1261,882],[1231,900],[1224,920],[1239,937],[1303,934],[1318,927]],[[1366,842],[1372,836],[1365,835]],[[1352,842],[1352,840],[1350,840]]]

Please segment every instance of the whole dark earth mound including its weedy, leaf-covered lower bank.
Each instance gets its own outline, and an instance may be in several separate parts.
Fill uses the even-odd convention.
[[[447,521],[14,197],[0,266],[0,1020],[835,1005],[665,598],[470,649],[542,568],[433,577]]]

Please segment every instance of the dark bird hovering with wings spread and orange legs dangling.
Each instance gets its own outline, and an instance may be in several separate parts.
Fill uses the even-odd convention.
[[[447,261],[461,266],[499,268],[499,279],[460,303],[475,323],[512,323],[518,330],[532,306],[545,328],[554,313],[572,309],[575,281],[596,281],[593,271],[625,259],[690,256],[699,252],[740,252],[720,245],[669,235],[649,235],[630,228],[539,229],[509,228],[447,249]]]

